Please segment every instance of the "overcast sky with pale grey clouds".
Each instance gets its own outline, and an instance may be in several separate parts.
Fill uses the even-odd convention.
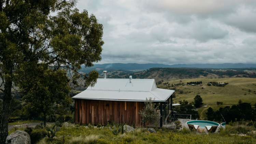
[[[255,0],[80,0],[103,63],[256,63]]]

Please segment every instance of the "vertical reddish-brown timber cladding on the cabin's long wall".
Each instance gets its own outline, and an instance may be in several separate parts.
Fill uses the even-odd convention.
[[[106,125],[108,121],[126,124],[133,124],[134,121],[136,125],[141,125],[139,112],[143,108],[144,102],[76,99],[75,123]]]

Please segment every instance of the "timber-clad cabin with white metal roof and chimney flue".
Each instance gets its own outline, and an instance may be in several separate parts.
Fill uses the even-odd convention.
[[[104,71],[104,78],[98,78],[94,87],[72,97],[75,99],[75,123],[106,125],[112,121],[126,124],[134,121],[138,126],[142,124],[139,112],[146,98],[160,103],[160,114],[165,117],[163,110],[166,104],[171,105],[172,93],[174,90],[157,88],[154,79],[132,79],[131,76],[129,79],[108,79]]]

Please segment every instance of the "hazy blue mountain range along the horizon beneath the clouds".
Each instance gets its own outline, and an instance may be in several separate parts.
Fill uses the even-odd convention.
[[[147,70],[150,68],[213,68],[213,69],[233,69],[233,68],[256,68],[256,64],[247,63],[223,63],[223,64],[158,64],[158,63],[105,63],[94,64],[96,68],[115,70]]]

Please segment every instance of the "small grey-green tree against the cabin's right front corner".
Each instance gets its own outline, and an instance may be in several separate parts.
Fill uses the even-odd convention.
[[[157,108],[154,106],[153,102],[154,100],[152,100],[152,98],[146,98],[144,109],[139,112],[139,114],[141,114],[142,117],[142,123],[155,123],[160,119],[161,116],[158,113]]]

